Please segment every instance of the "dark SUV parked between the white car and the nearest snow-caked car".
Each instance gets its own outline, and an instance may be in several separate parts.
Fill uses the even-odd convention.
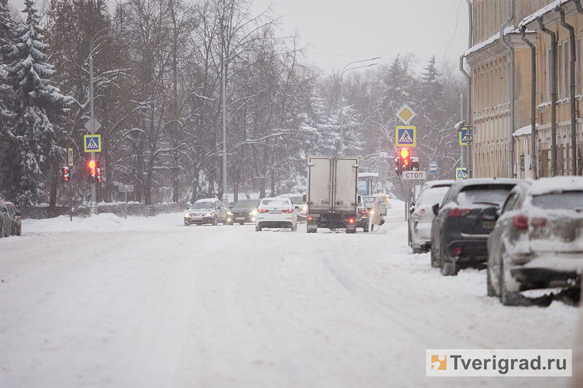
[[[493,207],[500,207],[519,179],[458,180],[449,187],[431,223],[431,266],[443,275],[457,275],[462,266],[487,259],[486,242],[496,224]]]

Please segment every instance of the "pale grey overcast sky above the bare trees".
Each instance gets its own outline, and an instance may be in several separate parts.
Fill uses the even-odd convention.
[[[19,10],[24,0],[9,0]],[[326,71],[353,60],[381,56],[390,62],[414,52],[419,67],[432,55],[459,62],[468,48],[468,3],[465,0],[254,0],[256,13],[272,4],[283,16],[282,33],[298,31],[310,44],[308,60]]]

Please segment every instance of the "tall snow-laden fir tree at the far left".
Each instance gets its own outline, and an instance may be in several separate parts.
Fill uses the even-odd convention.
[[[24,2],[26,22],[17,27],[9,55],[8,81],[13,88],[15,118],[7,133],[18,147],[16,200],[33,204],[45,195],[45,173],[55,170],[65,132],[59,123],[71,102],[51,85],[54,66],[47,63],[47,45],[33,0]]]

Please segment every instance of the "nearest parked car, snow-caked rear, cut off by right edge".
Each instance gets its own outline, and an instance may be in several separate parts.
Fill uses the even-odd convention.
[[[581,287],[583,177],[523,181],[496,218],[487,243],[489,296],[517,305],[520,291]]]

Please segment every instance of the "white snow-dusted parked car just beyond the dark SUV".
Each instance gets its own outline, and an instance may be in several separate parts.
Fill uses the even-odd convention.
[[[409,234],[413,253],[421,253],[431,248],[431,222],[433,222],[433,205],[445,197],[449,186],[430,187],[423,190],[409,216]]]

